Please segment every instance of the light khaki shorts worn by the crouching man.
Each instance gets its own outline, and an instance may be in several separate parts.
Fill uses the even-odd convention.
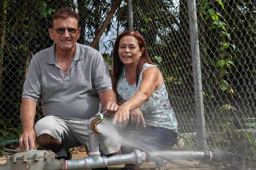
[[[36,137],[47,133],[62,141],[64,148],[84,145],[90,150],[87,123],[88,120],[67,121],[56,116],[46,116],[35,124]],[[100,152],[103,155],[119,151],[122,143],[121,137],[111,123],[108,124],[108,131],[111,133],[100,135]]]

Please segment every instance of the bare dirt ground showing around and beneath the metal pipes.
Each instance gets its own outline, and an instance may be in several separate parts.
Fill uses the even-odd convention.
[[[76,147],[70,149],[69,152],[72,153],[72,159],[81,159],[87,157],[86,150],[84,147]],[[8,152],[10,155],[13,153]],[[0,164],[6,163],[6,156],[0,157]],[[209,165],[207,162],[199,163],[198,160],[195,161],[169,161],[168,163],[169,169],[175,170],[215,170],[213,165]],[[115,165],[115,166],[108,166],[109,170],[120,170],[124,165]],[[140,169],[144,170],[153,170],[155,167],[154,162],[143,163]]]

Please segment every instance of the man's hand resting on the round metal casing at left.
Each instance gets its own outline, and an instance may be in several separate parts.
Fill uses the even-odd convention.
[[[36,149],[35,140],[36,140],[36,133],[34,129],[33,128],[26,129],[19,136],[19,146],[22,150]]]

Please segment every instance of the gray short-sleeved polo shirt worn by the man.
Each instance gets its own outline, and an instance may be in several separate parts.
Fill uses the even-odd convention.
[[[98,93],[112,89],[110,75],[99,51],[76,43],[66,77],[59,69],[55,45],[35,54],[28,68],[22,98],[38,101],[44,116],[85,120],[101,109]]]

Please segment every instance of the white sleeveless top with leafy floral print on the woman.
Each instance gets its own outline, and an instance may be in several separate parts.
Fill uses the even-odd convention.
[[[126,67],[124,66],[123,73],[120,76],[117,85],[117,93],[119,95],[119,101],[125,102],[128,101],[138,90],[142,82],[142,73],[148,67],[157,67],[145,63],[142,67],[138,85],[131,85],[125,77]],[[141,107],[143,117],[145,119],[146,126],[165,128],[169,130],[177,131],[177,120],[175,113],[170,106],[170,101],[168,99],[168,93],[163,81],[162,86],[153,91],[152,96],[146,100]]]

